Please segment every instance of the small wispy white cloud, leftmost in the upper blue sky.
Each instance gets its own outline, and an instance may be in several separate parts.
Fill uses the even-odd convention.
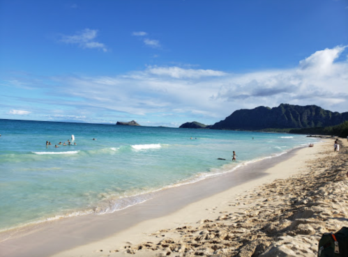
[[[107,47],[101,43],[96,42],[96,37],[98,35],[98,30],[95,29],[84,29],[82,31],[79,31],[75,33],[75,35],[72,36],[61,36],[61,42],[64,42],[66,44],[74,44],[79,45],[82,48],[96,48],[101,49],[103,52],[107,52]]]

